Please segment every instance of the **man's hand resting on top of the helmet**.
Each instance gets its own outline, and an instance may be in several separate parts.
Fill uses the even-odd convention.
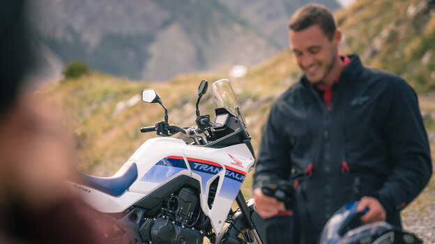
[[[383,209],[381,203],[373,197],[363,197],[358,203],[358,208],[356,211],[361,213],[365,208],[369,208],[369,211],[361,217],[361,222],[363,224],[368,224],[376,221],[386,220],[386,211]]]

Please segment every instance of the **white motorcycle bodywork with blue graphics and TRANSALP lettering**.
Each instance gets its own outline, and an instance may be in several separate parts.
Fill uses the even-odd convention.
[[[215,233],[219,234],[246,172],[253,166],[254,158],[243,143],[211,148],[187,145],[175,138],[152,138],[143,143],[114,176],[90,177],[86,180],[88,185],[89,181],[96,182],[91,186],[71,184],[96,210],[121,213],[168,181],[184,174],[199,182],[201,209],[210,218]],[[213,193],[211,184],[217,178],[217,188]],[[98,184],[100,181],[103,183]],[[121,181],[123,186],[117,184]],[[123,192],[119,194],[121,190]],[[213,202],[209,204],[210,197]]]

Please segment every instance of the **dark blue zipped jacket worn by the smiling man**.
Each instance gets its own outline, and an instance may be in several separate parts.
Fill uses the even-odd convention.
[[[349,58],[330,110],[303,77],[275,101],[261,138],[254,188],[306,172],[296,202],[313,240],[340,206],[366,195],[401,226],[399,211],[432,174],[413,89],[394,74],[363,67],[358,56]]]

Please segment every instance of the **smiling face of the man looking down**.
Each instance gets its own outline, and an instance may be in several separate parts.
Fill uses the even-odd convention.
[[[341,38],[337,32],[330,40],[317,24],[302,31],[289,31],[296,62],[311,83],[323,81],[334,67]]]

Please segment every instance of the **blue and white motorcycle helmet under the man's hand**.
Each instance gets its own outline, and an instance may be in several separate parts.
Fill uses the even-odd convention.
[[[363,225],[360,216],[367,213],[356,211],[358,202],[342,206],[328,220],[319,244],[418,244],[422,241],[412,233],[402,231],[387,222],[379,221]]]

